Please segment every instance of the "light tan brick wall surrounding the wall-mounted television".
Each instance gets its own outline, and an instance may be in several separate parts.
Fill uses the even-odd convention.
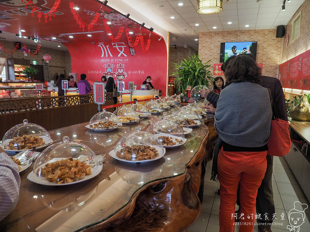
[[[263,75],[277,77],[281,63],[283,38],[276,38],[276,29],[199,33],[199,57],[218,64],[221,42],[257,41],[256,61],[263,64]],[[214,76],[215,77],[215,76]]]

